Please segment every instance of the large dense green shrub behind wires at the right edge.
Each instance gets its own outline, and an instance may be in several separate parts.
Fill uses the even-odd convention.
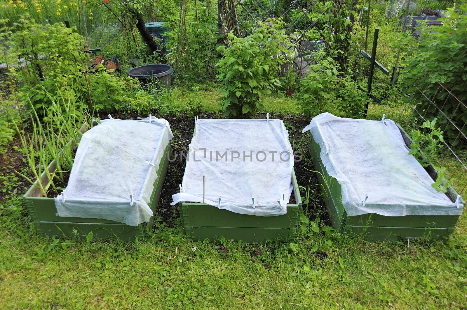
[[[434,103],[438,108],[442,108],[444,115],[451,116],[455,113],[455,125],[446,117],[439,118],[438,124],[445,128],[446,142],[457,148],[467,148],[467,145],[459,144],[459,130],[456,128],[463,128],[464,135],[467,135],[467,128],[463,127],[467,121],[467,113],[462,107],[457,109],[459,101],[448,92],[439,89],[438,83],[434,81],[439,81],[459,100],[467,102],[466,13],[467,4],[460,6],[460,12],[449,9],[446,17],[440,19],[443,20],[442,26],[437,26],[434,30],[422,28],[418,40],[406,35],[403,44],[400,45],[403,53],[407,54],[402,64],[410,68],[403,71],[403,85],[408,88],[408,93],[413,95],[414,101],[420,98],[420,91],[416,88],[418,86],[428,98],[434,98]],[[417,110],[421,111],[426,119],[433,120],[441,115],[438,108],[422,98]],[[417,112],[415,116],[418,116]]]

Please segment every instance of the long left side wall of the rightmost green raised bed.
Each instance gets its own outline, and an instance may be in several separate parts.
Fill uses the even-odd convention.
[[[332,178],[326,171],[323,162],[321,161],[321,148],[311,136],[310,138],[310,155],[313,157],[313,165],[316,171],[318,181],[323,185],[321,190],[325,191],[324,200],[325,204],[331,217],[333,228],[336,231],[342,231],[343,224],[345,222],[345,209],[342,203],[342,188],[336,179]],[[325,184],[330,185],[326,187]]]

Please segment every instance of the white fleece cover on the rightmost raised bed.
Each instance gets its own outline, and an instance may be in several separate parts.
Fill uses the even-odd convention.
[[[329,175],[342,187],[348,216],[460,215],[463,205],[432,188],[432,178],[408,154],[394,121],[315,116],[310,130]],[[365,197],[368,195],[368,198]]]

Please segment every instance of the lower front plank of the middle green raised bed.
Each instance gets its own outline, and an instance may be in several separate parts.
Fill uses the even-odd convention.
[[[291,240],[295,238],[295,231],[286,228],[191,227],[189,236],[195,240],[218,240],[224,237],[250,243],[273,239]]]

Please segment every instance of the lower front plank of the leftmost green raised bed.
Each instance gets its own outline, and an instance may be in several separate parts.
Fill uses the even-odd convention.
[[[84,239],[92,231],[93,238],[113,239],[118,237],[125,241],[133,241],[136,238],[144,238],[146,223],[138,226],[108,223],[83,223],[83,222],[39,222],[42,234],[46,236],[73,237]]]

